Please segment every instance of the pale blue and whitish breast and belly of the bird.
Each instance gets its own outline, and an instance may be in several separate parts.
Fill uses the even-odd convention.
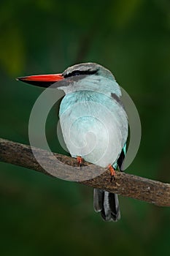
[[[96,91],[66,94],[60,106],[63,139],[72,157],[107,167],[116,162],[128,136],[123,107]]]

